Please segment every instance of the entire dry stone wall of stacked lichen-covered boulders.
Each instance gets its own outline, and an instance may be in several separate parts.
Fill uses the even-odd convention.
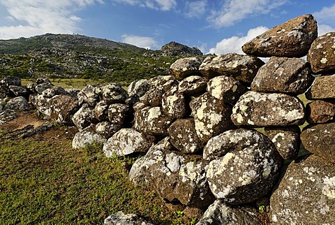
[[[14,107],[6,98],[31,94],[40,113],[77,126],[73,147],[142,152],[133,183],[208,208],[198,224],[260,224],[250,205],[264,198],[274,224],[335,224],[334,34],[317,38],[313,16],[302,15],[246,43],[248,55],[179,59],[170,75],[134,81],[128,92],[6,78],[0,113]]]

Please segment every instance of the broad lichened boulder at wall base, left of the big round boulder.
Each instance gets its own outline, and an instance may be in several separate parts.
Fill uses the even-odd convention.
[[[200,156],[172,151],[168,138],[135,161],[129,176],[135,185],[158,191],[168,201],[204,208],[214,201],[206,182],[207,161]]]

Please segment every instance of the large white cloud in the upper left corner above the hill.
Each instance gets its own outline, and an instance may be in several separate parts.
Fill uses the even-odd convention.
[[[12,26],[0,27],[0,38],[29,37],[45,33],[72,34],[79,31],[82,19],[74,15],[77,10],[102,0],[0,0]]]

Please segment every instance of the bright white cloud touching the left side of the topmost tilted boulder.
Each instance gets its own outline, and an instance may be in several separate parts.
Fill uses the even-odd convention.
[[[256,27],[253,29],[249,29],[246,36],[232,36],[231,38],[224,38],[220,42],[216,43],[215,48],[211,48],[209,50],[209,53],[216,55],[222,55],[230,52],[244,54],[241,49],[242,45],[244,45],[248,41],[251,41],[251,39],[264,33],[267,30],[267,27]]]

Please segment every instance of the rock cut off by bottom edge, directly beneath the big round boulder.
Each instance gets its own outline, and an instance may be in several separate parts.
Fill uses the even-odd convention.
[[[255,210],[246,207],[230,207],[223,201],[216,200],[204,212],[204,215],[196,225],[261,225]]]

